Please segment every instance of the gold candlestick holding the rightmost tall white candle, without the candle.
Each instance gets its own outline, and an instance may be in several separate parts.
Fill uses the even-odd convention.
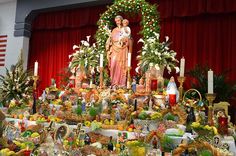
[[[216,98],[216,94],[206,94],[206,99],[209,102],[208,105],[208,124],[210,126],[214,125],[214,121],[213,121],[213,101]]]

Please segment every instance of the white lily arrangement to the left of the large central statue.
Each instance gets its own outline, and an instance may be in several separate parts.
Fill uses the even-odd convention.
[[[98,66],[99,54],[95,44],[90,45],[90,36],[86,37],[87,40],[82,40],[81,44],[74,45],[74,53],[69,55],[71,62],[69,62],[69,68],[72,73],[76,72],[76,68],[83,67],[85,71],[92,70]]]

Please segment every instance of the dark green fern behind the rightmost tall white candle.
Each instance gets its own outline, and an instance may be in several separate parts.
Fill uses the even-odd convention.
[[[202,95],[207,93],[207,72],[208,66],[196,65],[192,70],[187,72],[196,81],[191,81],[191,87],[197,89]],[[215,102],[230,101],[231,97],[236,93],[236,84],[232,84],[227,80],[227,73],[214,74],[214,93],[216,93]]]

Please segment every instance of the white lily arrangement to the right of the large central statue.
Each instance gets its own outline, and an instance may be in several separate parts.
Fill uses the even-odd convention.
[[[173,68],[178,73],[179,67],[176,66],[176,63],[179,61],[175,58],[176,52],[169,48],[169,37],[166,36],[166,40],[163,42],[160,42],[159,37],[160,35],[158,33],[154,33],[154,36],[146,40],[141,38],[138,41],[143,43],[141,55],[137,56],[139,60],[138,66],[143,72],[146,72],[150,66],[154,66],[157,70],[163,66],[167,68],[169,73]]]

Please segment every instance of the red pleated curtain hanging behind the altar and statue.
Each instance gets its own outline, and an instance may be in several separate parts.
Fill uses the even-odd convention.
[[[177,57],[186,59],[186,70],[196,64],[207,64],[216,73],[231,70],[230,80],[236,80],[236,2],[234,0],[150,0],[158,3],[161,24],[161,40],[169,36],[171,48]],[[49,86],[51,78],[59,85],[58,76],[69,63],[72,46],[79,44],[87,35],[94,35],[99,14],[106,6],[78,8],[40,14],[33,22],[30,40],[28,67],[39,62],[39,90]],[[134,38],[132,56],[133,71],[135,57],[141,45],[140,17],[127,16]],[[175,73],[171,73],[174,75]],[[170,77],[170,75],[167,75]]]

